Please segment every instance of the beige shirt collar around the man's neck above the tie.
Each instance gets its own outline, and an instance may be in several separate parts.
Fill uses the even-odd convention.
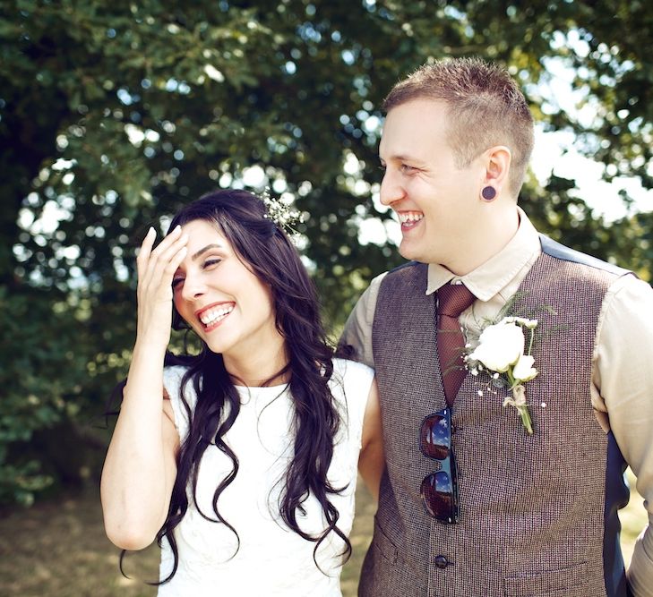
[[[489,301],[495,294],[517,276],[528,261],[533,260],[534,253],[541,251],[537,230],[524,213],[517,208],[520,226],[517,233],[503,249],[485,263],[473,269],[465,276],[456,276],[449,269],[438,263],[428,264],[428,284],[426,294],[433,294],[448,282],[462,282],[478,300]]]

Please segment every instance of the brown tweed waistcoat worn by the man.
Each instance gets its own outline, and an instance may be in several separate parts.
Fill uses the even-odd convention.
[[[532,350],[539,375],[525,384],[534,434],[503,407],[505,388],[489,387],[486,373],[467,375],[452,406],[455,525],[428,516],[419,495],[437,463],[420,452],[417,431],[446,405],[436,296],[425,295],[424,264],[409,263],[383,279],[373,348],[387,469],[360,595],[608,595],[609,439],[589,388],[597,319],[615,275],[543,252],[523,280],[511,313],[539,321]]]

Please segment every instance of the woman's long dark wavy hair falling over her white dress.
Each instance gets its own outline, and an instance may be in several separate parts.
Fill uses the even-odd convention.
[[[279,498],[279,514],[286,525],[308,541],[315,542],[314,559],[320,543],[333,532],[344,542],[343,555],[351,554],[351,543],[337,525],[339,512],[329,500],[330,494],[343,488],[334,488],[327,479],[333,456],[333,442],[339,429],[340,416],[334,404],[328,381],[331,379],[333,351],[327,344],[322,328],[320,305],[313,282],[299,259],[288,236],[268,216],[267,209],[258,197],[250,192],[221,190],[211,192],[185,206],[170,223],[172,231],[177,225],[194,220],[214,224],[225,236],[253,274],[271,287],[276,327],[284,337],[288,364],[279,374],[288,375],[289,390],[294,404],[295,434],[293,458],[288,465]],[[173,327],[188,328],[175,311]],[[174,554],[172,578],[178,565],[178,551],[174,529],[188,508],[186,487],[192,486],[195,507],[207,520],[236,529],[219,512],[219,496],[236,478],[238,457],[224,441],[225,434],[236,421],[240,401],[236,388],[225,369],[221,354],[212,353],[202,342],[202,351],[195,356],[169,354],[166,365],[184,364],[188,367],[182,378],[181,399],[190,422],[190,431],[177,456],[176,481],[166,522],[157,534],[159,545],[163,537]],[[267,383],[270,383],[268,380]],[[193,383],[197,393],[194,412],[184,398],[184,388]],[[213,494],[213,515],[203,513],[196,498],[197,473],[204,450],[214,443],[228,456],[232,471],[219,482]],[[317,499],[327,526],[317,536],[305,533],[297,524],[297,512],[304,513],[303,504],[309,493]],[[236,550],[237,551],[237,550]]]

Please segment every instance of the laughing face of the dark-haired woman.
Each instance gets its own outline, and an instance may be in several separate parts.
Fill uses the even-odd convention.
[[[217,226],[182,226],[188,252],[173,277],[176,310],[212,352],[247,359],[282,342],[271,289],[241,261]]]

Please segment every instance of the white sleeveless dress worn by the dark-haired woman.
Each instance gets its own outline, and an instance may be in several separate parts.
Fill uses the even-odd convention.
[[[357,362],[335,359],[330,381],[343,423],[336,437],[328,477],[333,487],[346,487],[331,495],[339,511],[339,529],[348,534],[354,518],[354,492],[365,405],[374,371]],[[184,367],[164,371],[164,385],[175,412],[175,424],[182,441],[188,433],[179,387]],[[185,398],[194,409],[197,397],[189,382]],[[179,562],[175,576],[159,586],[159,597],[340,597],[340,554],[344,543],[329,533],[317,551],[315,543],[291,531],[279,516],[282,479],[292,457],[292,402],[285,386],[237,388],[240,413],[225,440],[239,461],[236,479],[219,497],[220,514],[240,538],[225,525],[202,517],[193,504],[189,486],[188,510],[175,529]],[[202,513],[215,519],[211,505],[218,483],[231,471],[231,463],[217,447],[207,448],[200,465],[197,501]],[[305,516],[297,513],[303,531],[317,534],[325,523],[322,508],[309,497]],[[172,550],[164,540],[160,579],[172,570]]]

